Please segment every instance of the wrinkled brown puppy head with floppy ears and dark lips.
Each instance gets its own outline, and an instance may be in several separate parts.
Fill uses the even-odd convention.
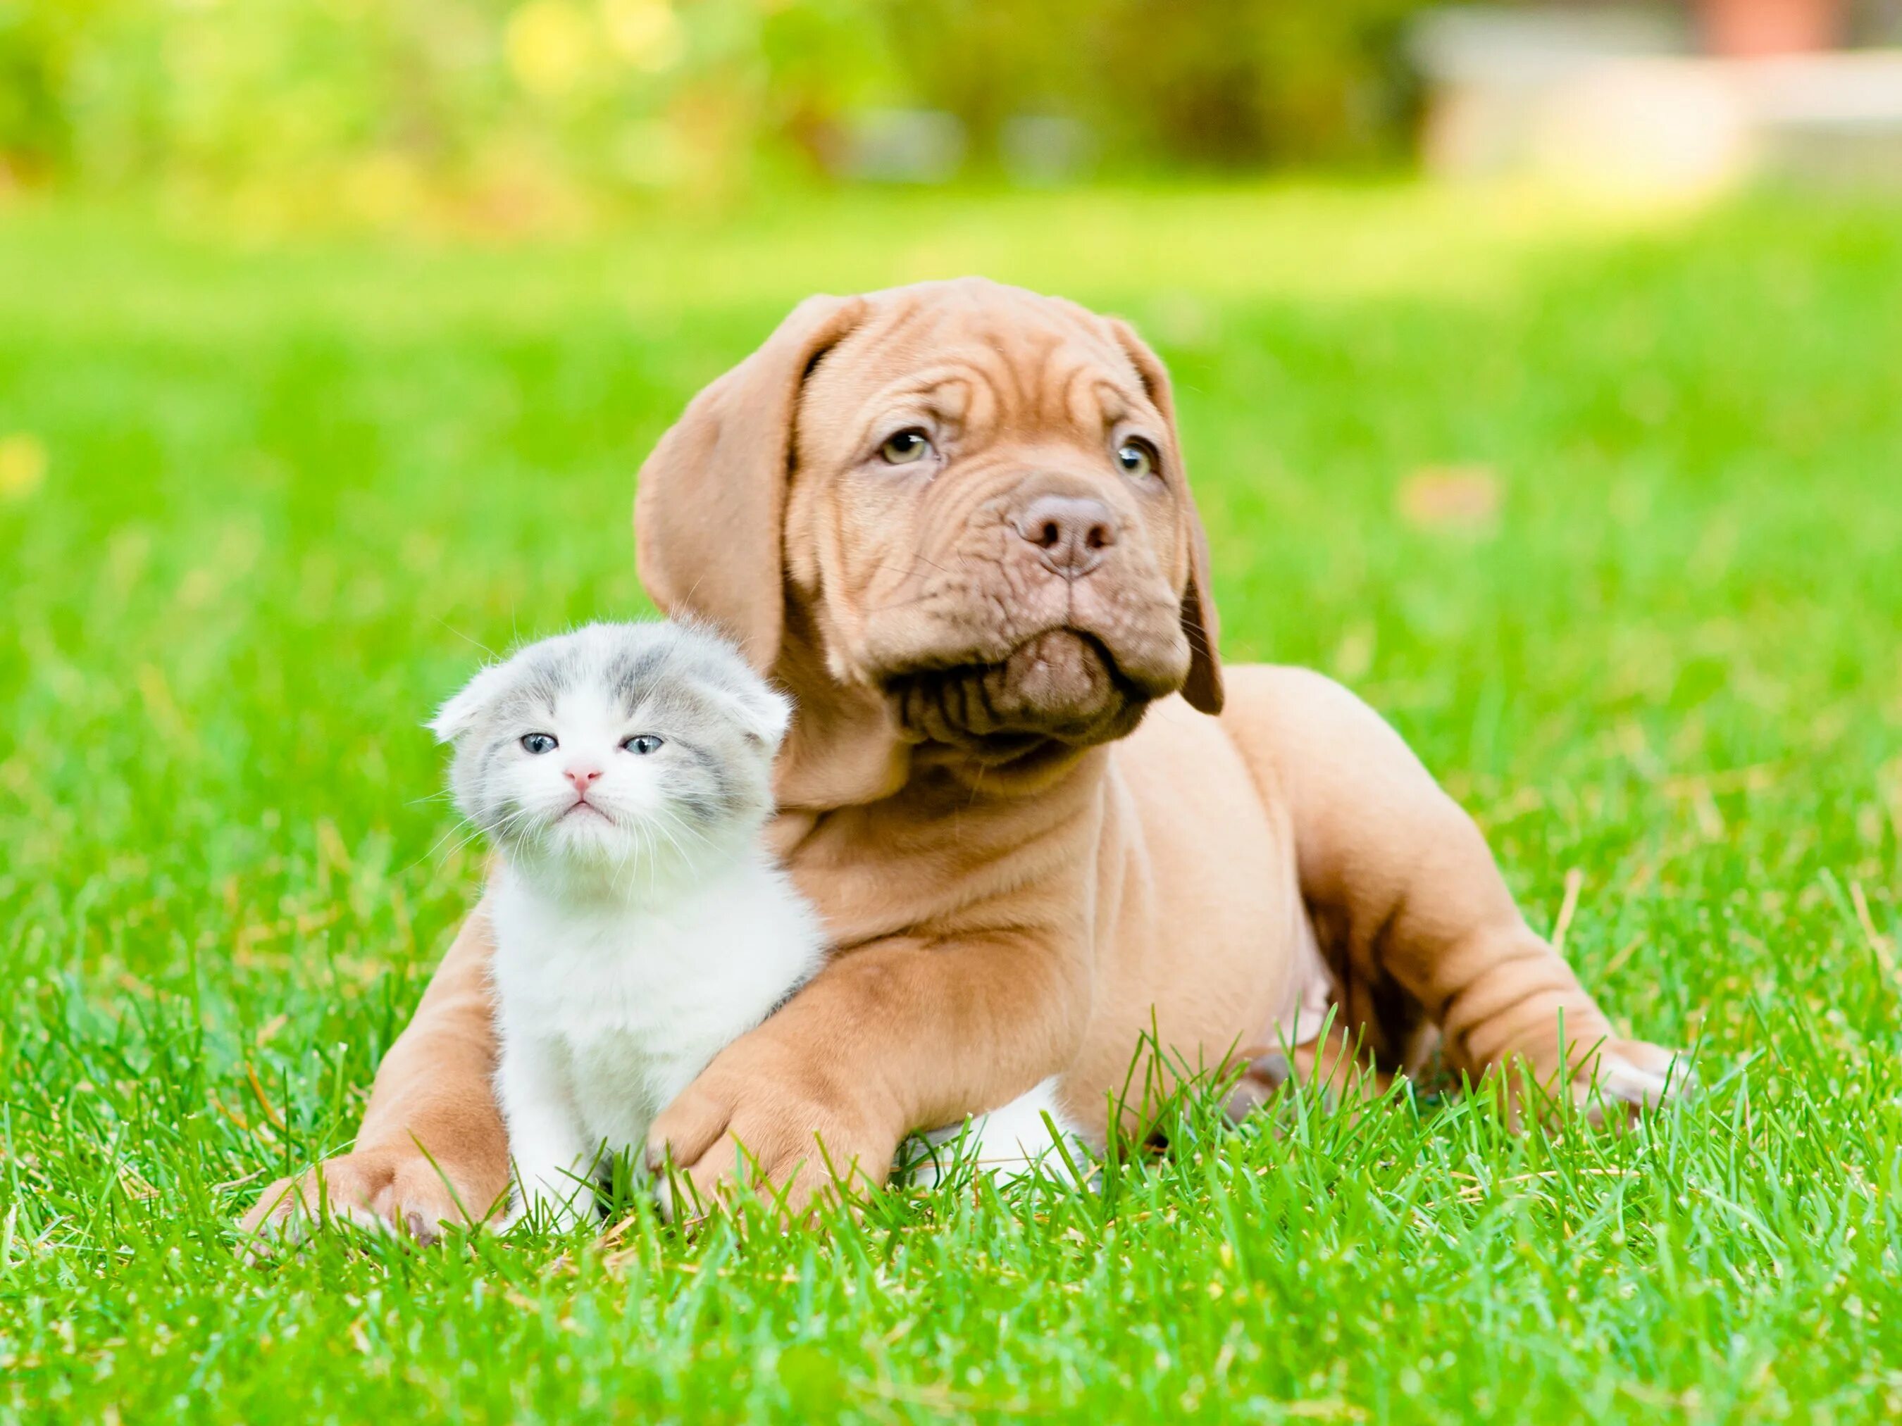
[[[907,742],[987,761],[1221,707],[1162,363],[981,279],[805,302],[641,472],[641,574],[757,667],[787,643]],[[787,627],[793,639],[787,639]]]

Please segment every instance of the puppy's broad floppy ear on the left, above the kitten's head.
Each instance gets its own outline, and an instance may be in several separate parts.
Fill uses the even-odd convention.
[[[725,629],[761,673],[772,669],[786,626],[780,529],[799,392],[864,314],[860,297],[808,297],[687,405],[641,466],[641,586],[666,614]]]

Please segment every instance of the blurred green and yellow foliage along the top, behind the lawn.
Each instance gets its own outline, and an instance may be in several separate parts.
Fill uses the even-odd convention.
[[[1071,165],[1377,154],[1419,0],[0,0],[0,186],[546,222],[850,171],[892,110]],[[1006,164],[1008,167],[1008,164]]]

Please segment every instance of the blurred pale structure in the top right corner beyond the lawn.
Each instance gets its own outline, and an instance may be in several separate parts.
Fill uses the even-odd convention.
[[[1765,175],[1902,186],[1902,49],[1767,53],[1835,34],[1832,0],[1698,11],[1697,32],[1655,10],[1428,11],[1411,46],[1430,95],[1426,167],[1622,194]],[[1698,34],[1740,53],[1691,53]]]

